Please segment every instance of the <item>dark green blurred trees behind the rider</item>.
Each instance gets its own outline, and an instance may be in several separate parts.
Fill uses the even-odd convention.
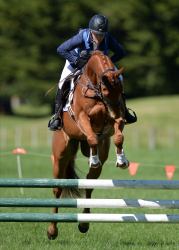
[[[127,52],[116,66],[125,67],[128,96],[179,93],[177,0],[1,0],[0,8],[1,95],[53,104],[54,92],[44,94],[64,65],[56,49],[97,13]]]

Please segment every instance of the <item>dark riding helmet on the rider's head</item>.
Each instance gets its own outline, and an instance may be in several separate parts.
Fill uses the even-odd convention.
[[[103,15],[95,15],[89,22],[89,28],[94,34],[105,35],[109,30],[108,19]]]

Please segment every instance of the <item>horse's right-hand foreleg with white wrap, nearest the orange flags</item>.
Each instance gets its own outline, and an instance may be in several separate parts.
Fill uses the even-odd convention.
[[[119,167],[121,169],[126,169],[129,167],[129,161],[126,159],[122,147],[124,142],[124,136],[122,134],[122,131],[124,129],[124,120],[120,118],[118,123],[115,123],[114,128],[115,128],[115,134],[113,136],[113,140],[116,146],[116,155],[117,155],[116,167]]]

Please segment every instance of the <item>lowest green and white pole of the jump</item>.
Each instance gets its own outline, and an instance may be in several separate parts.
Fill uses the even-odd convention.
[[[179,214],[46,214],[1,213],[1,222],[179,223]]]

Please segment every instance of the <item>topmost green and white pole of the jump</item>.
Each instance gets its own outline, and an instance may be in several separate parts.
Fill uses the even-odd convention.
[[[0,179],[0,187],[79,189],[179,189],[174,180]]]

